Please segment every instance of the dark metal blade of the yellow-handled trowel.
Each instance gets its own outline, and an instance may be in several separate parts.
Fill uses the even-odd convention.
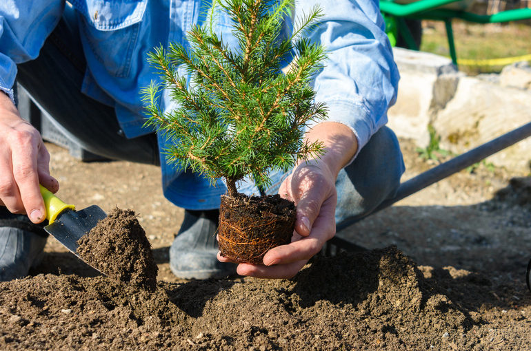
[[[79,257],[77,241],[83,235],[88,234],[90,229],[94,228],[105,217],[107,217],[107,214],[96,205],[88,206],[86,209],[79,211],[65,209],[52,224],[45,226],[44,230]]]

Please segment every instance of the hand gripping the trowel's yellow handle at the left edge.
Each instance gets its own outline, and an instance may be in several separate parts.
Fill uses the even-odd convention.
[[[50,154],[39,131],[23,120],[10,98],[0,92],[0,206],[46,219],[39,183],[53,193],[59,182],[50,176]]]

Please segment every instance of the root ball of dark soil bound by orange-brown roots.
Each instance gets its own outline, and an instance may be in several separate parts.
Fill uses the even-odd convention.
[[[270,249],[289,244],[297,209],[277,195],[221,198],[219,251],[238,263],[263,264]]]

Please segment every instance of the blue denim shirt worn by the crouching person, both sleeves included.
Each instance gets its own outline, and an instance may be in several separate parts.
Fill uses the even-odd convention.
[[[201,0],[70,0],[79,12],[81,41],[87,58],[83,93],[114,106],[123,132],[134,138],[152,132],[143,127],[146,116],[139,89],[158,77],[146,62],[154,46],[177,42],[186,45],[186,32],[204,21]],[[379,3],[374,0],[299,1],[294,17],[319,4],[325,13],[311,34],[328,49],[328,61],[315,78],[316,100],[327,104],[329,120],[354,131],[359,149],[385,123],[387,110],[397,97],[399,74],[383,32]],[[0,90],[12,96],[17,63],[36,58],[46,37],[57,25],[64,6],[61,0],[0,1]],[[289,22],[290,19],[287,19]],[[289,28],[289,26],[288,26]],[[217,32],[234,45],[228,17],[219,17]],[[183,72],[180,72],[183,74]],[[166,92],[167,93],[167,92]],[[174,107],[163,94],[163,109]],[[159,136],[159,147],[166,141]],[[190,172],[174,169],[161,157],[163,191],[177,206],[188,209],[219,207],[216,187]],[[272,189],[285,174],[272,172]],[[257,193],[254,184],[242,182],[243,193]]]

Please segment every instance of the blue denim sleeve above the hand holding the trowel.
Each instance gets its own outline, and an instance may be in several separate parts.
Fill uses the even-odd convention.
[[[61,0],[0,1],[0,90],[13,102],[17,64],[37,58],[64,6]]]

